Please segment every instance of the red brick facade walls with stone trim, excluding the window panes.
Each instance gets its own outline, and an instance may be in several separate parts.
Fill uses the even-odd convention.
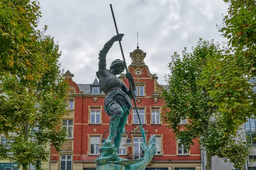
[[[157,83],[156,74],[149,72],[148,66],[144,63],[145,56],[146,53],[142,50],[134,50],[130,54],[132,63],[129,65],[128,70],[133,74],[136,85],[144,86],[144,96],[137,96],[137,106],[138,108],[145,108],[145,124],[143,124],[143,129],[146,132],[147,142],[151,135],[161,136],[162,140],[161,154],[154,156],[148,167],[152,169],[154,169],[154,167],[166,167],[169,168],[169,170],[183,170],[182,167],[191,167],[191,170],[200,170],[201,150],[198,142],[195,142],[195,145],[191,146],[188,152],[189,154],[178,154],[175,136],[171,130],[166,127],[166,122],[161,121],[160,124],[152,124],[151,110],[159,108],[160,112],[163,111],[162,105],[164,101],[159,97],[163,87]],[[51,168],[53,169],[60,169],[60,155],[72,155],[73,169],[95,167],[93,161],[99,155],[90,155],[89,136],[96,135],[100,136],[100,139],[102,139],[102,134],[109,128],[108,122],[110,117],[104,111],[105,95],[92,94],[92,92],[90,92],[92,89],[91,86],[90,89],[86,89],[86,85],[77,85],[76,82],[72,80],[73,76],[74,75],[69,71],[65,74],[67,82],[72,89],[70,90],[69,99],[74,101],[74,107],[73,110],[70,110],[70,116],[64,118],[73,120],[73,137],[69,139],[69,141],[72,141],[69,143],[72,144],[72,149],[70,147],[70,150],[64,149],[65,151],[59,154],[55,153],[51,156]],[[123,74],[121,74],[119,78],[128,86],[128,79],[125,79]],[[87,87],[89,87],[88,84]],[[99,124],[90,123],[90,108],[101,109],[101,121]],[[133,142],[133,137],[138,136],[140,133],[134,132],[138,124],[133,123],[132,116],[133,111],[131,110],[125,129],[128,131],[131,141]],[[106,133],[105,138],[107,138],[107,136],[108,133]],[[68,146],[68,144],[66,145]],[[128,155],[133,152],[133,147],[128,147],[126,154]],[[128,156],[121,157],[128,158]],[[58,166],[58,168],[56,166]],[[181,169],[177,169],[178,167]]]

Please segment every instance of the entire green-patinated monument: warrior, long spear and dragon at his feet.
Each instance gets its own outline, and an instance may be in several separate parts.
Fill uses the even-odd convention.
[[[155,147],[156,136],[153,135],[149,139],[148,146],[145,140],[145,134],[140,121],[141,132],[144,142],[141,144],[144,150],[144,157],[137,160],[122,159],[118,156],[118,149],[122,140],[122,134],[125,132],[125,124],[127,121],[130,108],[133,108],[131,99],[134,100],[135,109],[138,112],[136,97],[134,94],[135,83],[132,74],[128,72],[125,63],[125,57],[122,51],[122,37],[124,34],[118,34],[113,8],[111,12],[116,27],[117,35],[113,36],[99,53],[99,71],[96,72],[99,78],[99,85],[102,91],[106,94],[104,109],[110,116],[109,135],[99,149],[100,156],[95,160],[97,165],[96,170],[144,170],[145,166],[152,160],[157,148]],[[110,69],[106,68],[106,56],[113,43],[119,41],[124,61],[116,59],[111,63]],[[129,80],[129,89],[116,75],[121,74],[126,70],[125,77]],[[112,143],[113,141],[113,143]]]

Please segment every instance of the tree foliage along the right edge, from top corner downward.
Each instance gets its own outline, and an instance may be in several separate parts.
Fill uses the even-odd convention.
[[[256,76],[256,1],[224,1],[229,8],[219,31],[229,41],[223,55],[208,61],[202,85],[223,113],[220,121],[228,135],[256,115],[256,95],[249,83]]]

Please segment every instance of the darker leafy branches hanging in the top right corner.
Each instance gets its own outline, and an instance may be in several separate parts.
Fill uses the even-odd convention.
[[[229,40],[236,64],[246,74],[256,73],[256,1],[224,0],[229,5],[228,14],[224,16],[219,27],[223,37]]]

